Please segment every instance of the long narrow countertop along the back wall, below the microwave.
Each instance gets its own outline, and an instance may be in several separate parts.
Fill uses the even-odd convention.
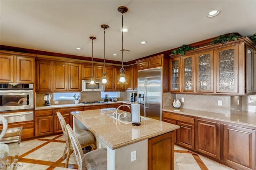
[[[117,102],[106,102],[106,103],[96,103],[96,104],[56,104],[56,105],[50,105],[50,106],[37,106],[35,110],[42,110],[42,109],[57,109],[57,108],[64,108],[64,107],[84,107],[84,106],[95,106],[95,105],[104,105],[104,104],[117,104],[117,103],[123,103],[123,104],[135,104],[135,102],[130,102],[128,100],[120,100]]]

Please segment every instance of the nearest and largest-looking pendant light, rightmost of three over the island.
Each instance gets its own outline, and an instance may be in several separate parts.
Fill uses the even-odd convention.
[[[125,6],[120,6],[117,8],[118,12],[122,13],[122,30],[123,30],[123,20],[124,20],[124,13],[128,11],[128,8]],[[123,68],[123,31],[122,31],[122,68],[120,69],[120,78],[117,84],[128,84],[125,79],[124,68]]]

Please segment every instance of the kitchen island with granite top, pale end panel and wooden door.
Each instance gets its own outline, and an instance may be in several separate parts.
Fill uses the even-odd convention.
[[[72,112],[74,131],[90,130],[97,148],[107,148],[108,170],[174,169],[173,135],[178,125],[147,119],[140,126],[132,126],[106,116],[114,111],[108,108]]]

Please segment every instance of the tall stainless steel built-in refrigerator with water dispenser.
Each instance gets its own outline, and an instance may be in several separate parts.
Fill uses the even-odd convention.
[[[162,119],[162,68],[138,71],[138,103],[140,115]]]

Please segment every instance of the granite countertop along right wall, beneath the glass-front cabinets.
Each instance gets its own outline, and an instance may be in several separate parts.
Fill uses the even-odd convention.
[[[200,111],[193,109],[174,109],[174,108],[165,108],[163,111],[171,111],[173,113],[179,113],[183,115],[190,115],[202,118],[209,118],[220,121],[228,121],[237,123],[240,125],[250,125],[256,127],[256,113],[250,111],[231,111],[231,114],[221,114],[210,111]]]

